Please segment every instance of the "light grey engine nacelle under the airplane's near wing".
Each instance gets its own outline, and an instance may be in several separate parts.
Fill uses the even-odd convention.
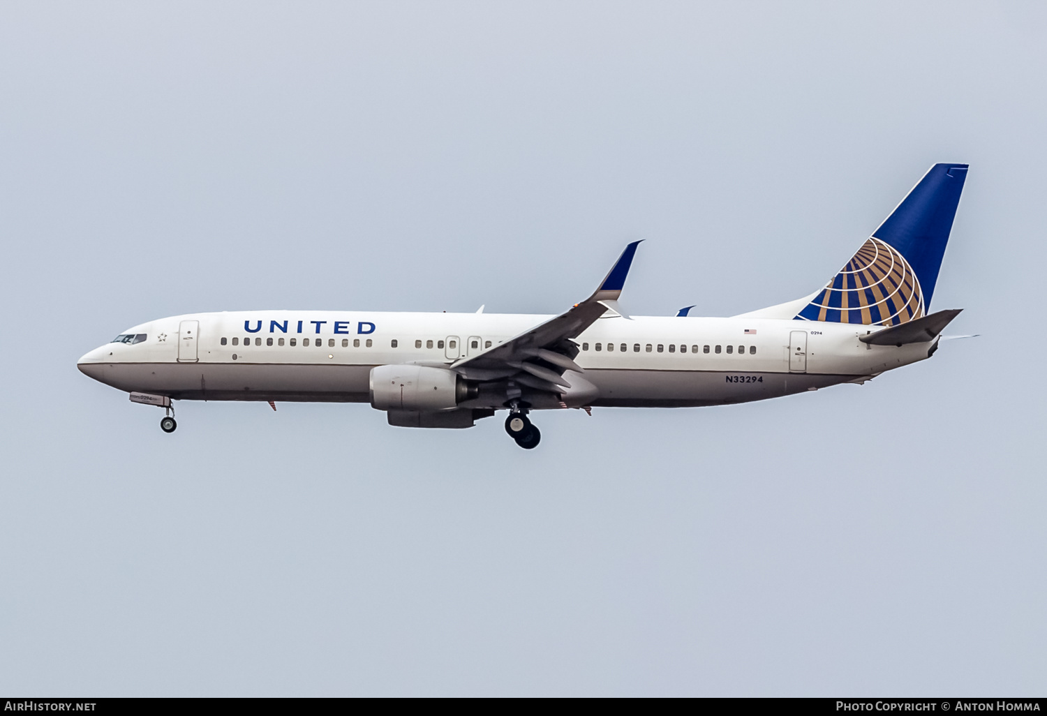
[[[379,365],[371,370],[371,406],[379,410],[452,410],[475,394],[475,386],[447,368]]]

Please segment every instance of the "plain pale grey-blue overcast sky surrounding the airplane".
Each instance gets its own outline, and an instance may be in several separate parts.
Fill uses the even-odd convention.
[[[0,692],[1047,686],[1040,3],[0,5]],[[804,295],[970,162],[933,360],[391,428],[82,376],[194,311]],[[1021,310],[1019,310],[1021,309]]]

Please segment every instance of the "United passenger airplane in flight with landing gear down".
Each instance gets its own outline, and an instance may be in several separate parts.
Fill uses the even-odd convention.
[[[962,309],[929,313],[967,164],[935,164],[823,287],[732,317],[630,316],[640,241],[560,315],[237,311],[148,321],[84,355],[87,376],[174,401],[367,403],[389,425],[467,428],[508,410],[525,449],[537,410],[698,407],[864,383],[934,355]]]

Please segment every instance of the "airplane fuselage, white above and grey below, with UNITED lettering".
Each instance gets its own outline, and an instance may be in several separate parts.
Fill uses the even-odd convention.
[[[121,390],[174,400],[367,402],[375,366],[450,365],[551,317],[198,313],[136,326],[126,333],[144,335],[140,342],[102,345],[79,367]],[[575,339],[583,380],[565,375],[585,387],[534,407],[683,407],[776,398],[867,380],[929,357],[933,345],[870,345],[859,340],[869,330],[774,318],[603,317]],[[463,407],[502,408],[503,401],[481,395]]]

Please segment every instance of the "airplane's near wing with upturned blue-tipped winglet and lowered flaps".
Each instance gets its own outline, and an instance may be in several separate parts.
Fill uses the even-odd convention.
[[[618,305],[618,298],[639,245],[634,241],[625,247],[600,287],[582,303],[480,355],[456,361],[451,370],[470,380],[513,378],[529,387],[552,393],[571,387],[563,373],[583,373],[574,361],[578,346],[571,339],[608,310],[629,318]]]

